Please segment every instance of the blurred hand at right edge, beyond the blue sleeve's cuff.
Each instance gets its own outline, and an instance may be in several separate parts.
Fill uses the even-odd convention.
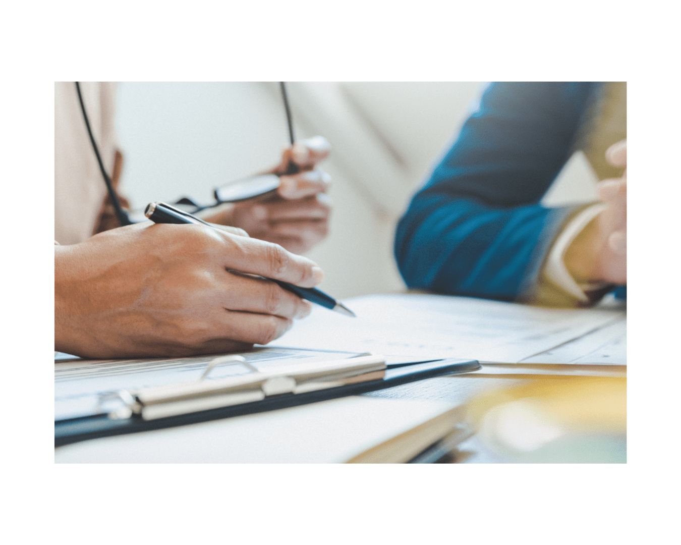
[[[605,152],[614,166],[627,166],[627,140]],[[575,279],[627,283],[627,170],[620,178],[601,181],[597,190],[607,208],[573,240],[565,264]]]

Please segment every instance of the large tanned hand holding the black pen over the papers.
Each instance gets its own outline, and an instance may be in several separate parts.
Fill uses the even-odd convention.
[[[56,246],[54,349],[87,358],[188,356],[280,337],[311,305],[252,275],[313,287],[323,272],[239,232],[137,223]]]

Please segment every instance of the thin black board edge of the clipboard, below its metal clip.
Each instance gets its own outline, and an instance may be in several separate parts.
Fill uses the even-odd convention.
[[[481,366],[477,360],[460,360],[447,358],[431,362],[405,365],[394,367],[385,371],[385,377],[377,380],[359,382],[355,384],[345,384],[336,388],[326,390],[315,390],[303,394],[282,394],[253,401],[242,403],[242,405],[232,405],[230,407],[219,407],[207,411],[197,411],[195,413],[159,418],[158,420],[142,420],[138,416],[132,416],[123,420],[112,420],[107,415],[86,416],[82,418],[72,418],[69,420],[59,420],[54,422],[54,446],[60,447],[70,443],[85,441],[86,439],[96,439],[97,437],[109,437],[111,435],[122,435],[124,433],[138,433],[140,431],[151,431],[175,426],[185,426],[197,422],[208,422],[232,416],[242,416],[244,414],[254,414],[317,401],[326,401],[351,395],[364,394],[375,390],[392,388],[417,380],[440,377],[442,375],[453,375],[460,373],[470,373],[477,371]]]

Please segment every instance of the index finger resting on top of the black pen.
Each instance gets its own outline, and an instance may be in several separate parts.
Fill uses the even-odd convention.
[[[279,245],[256,238],[220,234],[226,243],[221,254],[222,264],[227,269],[283,280],[302,287],[313,287],[324,277],[315,262],[289,253]]]

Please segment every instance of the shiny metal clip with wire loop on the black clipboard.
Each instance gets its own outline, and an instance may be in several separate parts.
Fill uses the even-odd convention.
[[[240,362],[255,372],[205,380],[216,365],[225,362]],[[381,379],[385,376],[385,369],[385,358],[375,354],[292,364],[265,372],[255,369],[242,356],[220,356],[208,363],[206,371],[197,381],[114,392],[113,395],[123,402],[123,407],[108,415],[112,419],[138,415],[142,420],[156,420],[261,401],[268,396],[300,394]]]

